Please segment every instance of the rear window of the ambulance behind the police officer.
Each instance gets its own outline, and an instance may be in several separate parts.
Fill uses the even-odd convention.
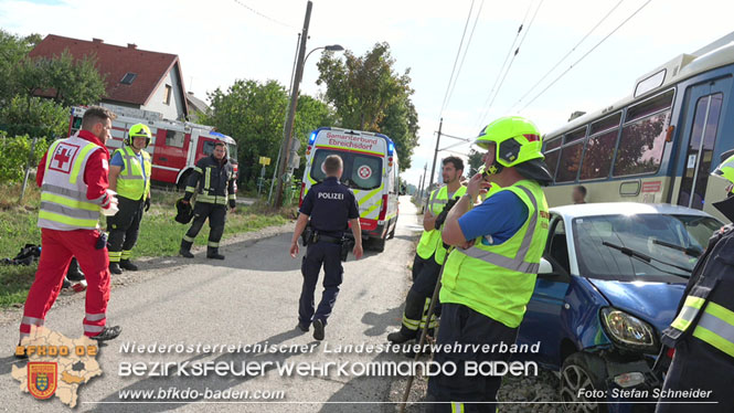
[[[311,163],[311,178],[321,182],[327,178],[322,169],[323,160],[329,155],[339,155],[344,162],[341,182],[352,189],[369,190],[380,188],[382,183],[382,159],[377,156],[318,149]]]

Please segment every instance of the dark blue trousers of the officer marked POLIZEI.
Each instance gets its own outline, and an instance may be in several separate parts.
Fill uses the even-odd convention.
[[[321,264],[323,264],[325,273],[323,294],[321,295],[319,308],[316,309],[315,314],[313,292],[319,280]],[[331,315],[333,305],[337,301],[339,286],[341,285],[344,273],[341,267],[341,245],[323,241],[309,245],[308,250],[306,250],[306,256],[304,256],[304,261],[301,262],[300,271],[304,274],[304,287],[301,288],[298,301],[298,322],[301,326],[308,327],[312,320],[320,319],[326,325],[327,318]]]

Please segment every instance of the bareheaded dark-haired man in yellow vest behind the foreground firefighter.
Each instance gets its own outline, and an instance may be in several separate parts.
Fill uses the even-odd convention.
[[[414,339],[426,324],[440,266],[446,260],[446,248],[440,240],[440,229],[436,227],[436,219],[450,199],[464,195],[467,189],[461,184],[464,161],[457,157],[448,157],[442,163],[446,184],[430,192],[428,198],[426,213],[423,215],[424,231],[413,260],[413,286],[405,298],[401,329],[387,335],[387,340],[392,342],[401,343]],[[430,317],[428,327],[436,327],[435,315]]]

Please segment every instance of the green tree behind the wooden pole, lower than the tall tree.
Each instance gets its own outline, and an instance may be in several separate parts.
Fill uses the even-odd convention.
[[[273,159],[275,167],[283,141],[288,94],[276,81],[236,81],[226,92],[209,94],[211,114],[201,121],[215,126],[237,141],[240,179],[254,182],[259,176],[259,157]],[[310,96],[298,98],[294,137],[306,144],[306,136],[319,126],[333,125],[334,114],[327,104]],[[302,146],[302,145],[301,145]]]

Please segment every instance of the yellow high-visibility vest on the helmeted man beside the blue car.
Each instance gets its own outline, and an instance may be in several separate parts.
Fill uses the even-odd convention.
[[[522,180],[492,195],[501,191],[512,191],[522,200],[528,219],[501,244],[485,245],[479,237],[467,250],[455,248],[444,265],[440,301],[466,305],[515,328],[535,288],[550,214],[545,194],[535,181]]]

